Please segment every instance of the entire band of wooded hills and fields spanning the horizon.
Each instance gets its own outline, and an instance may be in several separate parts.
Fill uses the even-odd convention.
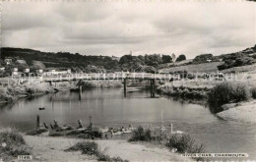
[[[26,67],[36,69],[39,65],[45,68],[71,68],[73,72],[84,71],[87,73],[116,71],[147,73],[173,73],[176,71],[214,72],[218,70],[229,71],[230,69],[235,69],[235,67],[237,69],[237,67],[254,65],[256,63],[256,45],[242,51],[219,56],[201,54],[194,59],[180,62],[173,62],[171,56],[162,54],[139,56],[128,54],[117,58],[113,56],[87,56],[69,52],[41,52],[26,48],[1,48],[2,61],[6,58],[15,58],[16,62],[25,60],[28,65],[18,67],[19,69]],[[1,66],[3,64],[0,64]]]

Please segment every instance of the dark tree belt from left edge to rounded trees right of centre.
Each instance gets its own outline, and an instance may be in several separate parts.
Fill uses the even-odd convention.
[[[175,54],[124,55],[118,61],[109,56],[81,55],[69,52],[41,52],[26,48],[1,48],[1,59],[4,60],[5,58],[23,59],[27,62],[27,64],[14,62],[7,66],[10,71],[14,67],[18,68],[19,71],[30,68],[31,72],[45,68],[70,68],[73,72],[83,71],[86,73],[116,71],[156,73],[160,65],[186,60],[186,56],[183,54],[179,55],[177,59]],[[34,64],[34,61],[42,63],[43,66]]]

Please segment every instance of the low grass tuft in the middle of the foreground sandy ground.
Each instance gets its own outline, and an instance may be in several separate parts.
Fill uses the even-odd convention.
[[[66,149],[65,151],[82,151],[82,154],[94,155],[98,161],[113,161],[124,162],[120,157],[113,157],[106,155],[107,149],[101,151],[100,147],[95,141],[82,141],[76,143],[74,146]]]

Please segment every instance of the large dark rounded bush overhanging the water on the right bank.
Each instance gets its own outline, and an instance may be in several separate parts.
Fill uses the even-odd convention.
[[[249,88],[242,83],[224,82],[217,84],[208,93],[210,110],[213,113],[223,111],[222,105],[232,102],[246,101],[250,97]]]

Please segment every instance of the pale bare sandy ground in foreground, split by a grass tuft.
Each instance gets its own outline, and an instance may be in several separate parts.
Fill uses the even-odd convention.
[[[39,161],[96,161],[96,157],[82,155],[81,152],[65,152],[66,148],[74,145],[81,139],[65,137],[44,137],[25,135],[25,140],[32,146],[34,159]],[[129,161],[189,161],[165,148],[145,143],[130,143],[126,140],[96,140],[110,157],[119,156]]]

